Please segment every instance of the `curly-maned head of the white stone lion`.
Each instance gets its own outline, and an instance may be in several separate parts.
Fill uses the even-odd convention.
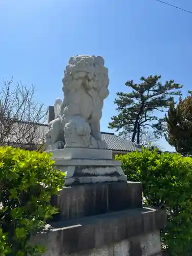
[[[83,86],[86,90],[99,92],[102,87],[108,88],[108,69],[100,56],[78,55],[71,57],[62,79],[63,92],[78,90]]]

